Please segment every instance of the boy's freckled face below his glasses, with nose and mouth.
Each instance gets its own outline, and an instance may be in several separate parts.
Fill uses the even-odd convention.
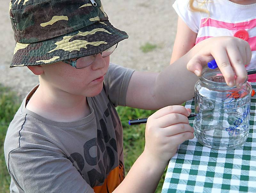
[[[97,54],[95,61],[82,69],[64,62],[42,65],[44,73],[41,78],[56,91],[92,97],[101,92],[108,66],[109,56]]]

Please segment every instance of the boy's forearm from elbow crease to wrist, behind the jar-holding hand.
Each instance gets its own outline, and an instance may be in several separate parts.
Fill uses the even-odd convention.
[[[194,96],[194,86],[199,78],[187,70],[187,63],[193,53],[195,51],[182,56],[157,75],[154,98],[157,100],[159,108],[181,104]]]

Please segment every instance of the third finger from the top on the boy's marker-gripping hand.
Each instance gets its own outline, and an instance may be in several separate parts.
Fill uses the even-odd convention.
[[[186,123],[178,123],[169,127],[165,127],[163,129],[163,134],[165,136],[173,136],[177,135],[179,133],[184,133],[184,132],[192,132],[194,133],[194,128],[191,127],[189,124]]]

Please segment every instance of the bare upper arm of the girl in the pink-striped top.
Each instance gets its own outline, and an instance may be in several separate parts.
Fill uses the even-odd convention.
[[[197,33],[193,32],[179,17],[170,64],[187,54],[187,52],[195,46],[196,36]]]

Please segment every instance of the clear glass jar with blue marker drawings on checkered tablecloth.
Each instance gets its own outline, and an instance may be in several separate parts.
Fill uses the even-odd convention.
[[[235,73],[235,72],[234,72]],[[204,68],[195,85],[195,135],[214,149],[243,145],[249,133],[252,86],[229,87],[219,69]]]

